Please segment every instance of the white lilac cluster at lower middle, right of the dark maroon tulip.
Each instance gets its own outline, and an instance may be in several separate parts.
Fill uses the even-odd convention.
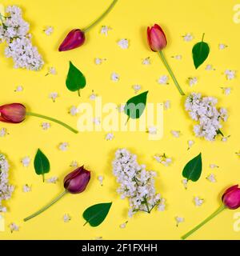
[[[138,211],[150,213],[154,206],[161,204],[160,194],[156,194],[154,187],[154,171],[147,171],[145,165],[139,165],[137,156],[126,149],[119,149],[115,153],[113,173],[117,177],[118,194],[121,198],[129,198],[129,216]]]

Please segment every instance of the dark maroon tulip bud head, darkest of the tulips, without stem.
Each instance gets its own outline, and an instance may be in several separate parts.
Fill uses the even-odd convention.
[[[64,178],[64,187],[71,194],[81,193],[90,181],[90,171],[79,167]]]

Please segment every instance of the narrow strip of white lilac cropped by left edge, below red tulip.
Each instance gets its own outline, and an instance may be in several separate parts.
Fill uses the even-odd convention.
[[[2,206],[3,200],[10,199],[14,186],[9,184],[8,171],[9,163],[3,154],[0,154],[0,212],[5,212],[6,207]]]

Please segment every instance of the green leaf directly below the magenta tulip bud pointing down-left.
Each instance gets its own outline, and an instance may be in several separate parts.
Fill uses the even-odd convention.
[[[70,91],[77,91],[80,96],[79,90],[86,86],[86,78],[80,70],[72,62],[70,62],[67,78],[66,87]]]

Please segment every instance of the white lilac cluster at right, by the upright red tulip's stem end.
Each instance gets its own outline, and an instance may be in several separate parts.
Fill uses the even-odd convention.
[[[190,117],[198,121],[194,126],[196,137],[204,137],[214,141],[217,134],[221,133],[221,120],[226,122],[228,115],[225,108],[217,108],[218,100],[213,97],[202,97],[201,94],[192,93],[186,98],[185,107]]]

